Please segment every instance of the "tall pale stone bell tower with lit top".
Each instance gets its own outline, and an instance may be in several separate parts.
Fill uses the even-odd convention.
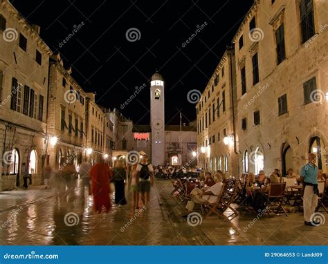
[[[154,73],[150,82],[150,126],[152,128],[152,164],[165,164],[165,106],[162,75]]]

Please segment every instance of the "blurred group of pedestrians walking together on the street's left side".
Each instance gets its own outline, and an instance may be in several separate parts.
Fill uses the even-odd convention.
[[[47,164],[44,188],[53,188],[55,198],[60,198],[66,190],[74,189],[78,178],[82,180],[89,196],[93,197],[93,210],[96,213],[110,211],[111,194],[118,207],[127,205],[126,185],[132,192],[131,207],[134,211],[139,211],[147,208],[150,189],[154,185],[154,169],[148,162],[146,153],[143,153],[138,163],[129,166],[125,165],[124,160],[118,159],[114,166],[110,167],[102,155],[100,155],[98,163],[93,166],[87,158],[84,158],[78,171],[73,162],[66,162],[56,171]],[[25,186],[27,188],[27,184],[24,184]]]

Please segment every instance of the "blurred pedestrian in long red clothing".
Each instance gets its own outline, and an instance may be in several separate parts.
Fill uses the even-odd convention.
[[[101,213],[103,208],[107,213],[111,209],[109,173],[109,167],[107,164],[104,164],[104,158],[100,156],[99,162],[90,170],[93,210],[98,214]]]

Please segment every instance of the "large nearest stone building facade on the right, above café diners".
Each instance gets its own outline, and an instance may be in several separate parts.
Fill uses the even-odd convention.
[[[327,171],[327,1],[255,1],[235,38],[242,171]]]

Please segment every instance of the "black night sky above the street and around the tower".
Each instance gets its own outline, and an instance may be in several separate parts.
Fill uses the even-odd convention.
[[[96,91],[98,104],[119,109],[135,124],[149,124],[149,80],[156,69],[165,81],[165,123],[179,124],[181,109],[183,122],[196,118],[187,93],[203,92],[252,3],[12,1],[27,21],[41,26],[41,37],[60,52],[65,68],[72,66],[80,86]],[[197,37],[183,45],[201,25]],[[80,29],[61,45],[74,28]],[[140,31],[140,39],[127,40],[130,28]],[[121,110],[120,104],[143,84],[147,87]]]

